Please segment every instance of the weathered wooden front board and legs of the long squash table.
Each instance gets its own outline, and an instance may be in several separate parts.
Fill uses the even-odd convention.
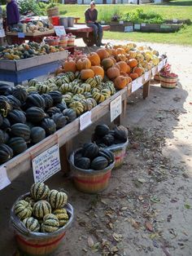
[[[138,77],[136,80],[129,83],[128,86],[125,86],[124,89],[119,90],[115,95],[111,96],[109,99],[106,99],[103,103],[98,104],[95,108],[93,108],[91,110],[92,124],[109,113],[111,110],[111,102],[117,97],[121,96],[122,112],[120,116],[115,120],[116,122],[120,123],[126,114],[126,104],[129,95],[143,86],[143,99],[146,99],[146,97],[149,95],[151,77],[154,77],[156,73],[159,73],[159,69],[163,68],[165,64],[166,60],[162,61],[158,67],[156,66],[155,68],[152,68],[147,73],[143,74],[142,77]],[[76,118],[75,121],[72,121],[67,126],[64,126],[62,129],[55,132],[54,135],[50,135],[46,139],[43,139],[40,143],[34,145],[32,148],[28,148],[27,151],[3,164],[2,166],[7,168],[8,178],[12,181],[20,176],[20,174],[31,170],[32,159],[56,143],[59,143],[60,154],[62,155],[62,170],[68,170],[68,154],[72,151],[72,139],[81,132],[80,118],[81,117]]]

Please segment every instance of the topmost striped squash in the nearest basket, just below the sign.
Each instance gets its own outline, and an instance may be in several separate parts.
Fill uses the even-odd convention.
[[[35,201],[46,199],[50,189],[45,183],[34,183],[31,187],[31,196]]]

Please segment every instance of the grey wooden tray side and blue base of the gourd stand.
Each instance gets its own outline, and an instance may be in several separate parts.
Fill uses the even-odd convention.
[[[68,58],[68,51],[35,56],[25,60],[0,60],[0,81],[20,82],[52,73],[60,61]]]

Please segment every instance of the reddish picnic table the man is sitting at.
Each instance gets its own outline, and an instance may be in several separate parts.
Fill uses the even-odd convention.
[[[109,30],[109,25],[102,25],[103,31]],[[94,45],[94,33],[93,29],[89,28],[86,24],[75,24],[74,27],[65,29],[66,33],[72,33],[76,38],[83,38],[83,41],[87,46]]]

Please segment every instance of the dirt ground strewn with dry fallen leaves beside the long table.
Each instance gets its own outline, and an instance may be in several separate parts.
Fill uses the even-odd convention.
[[[112,173],[105,192],[97,196],[77,192],[62,173],[49,181],[50,188],[69,192],[76,213],[57,256],[192,255],[192,48],[151,46],[167,52],[180,84],[166,90],[152,83],[146,100],[142,90],[129,98],[124,120],[129,128],[128,155],[121,169]],[[93,129],[79,142],[89,139]],[[7,224],[10,206],[32,181],[26,174],[1,192],[3,256],[15,251]]]

